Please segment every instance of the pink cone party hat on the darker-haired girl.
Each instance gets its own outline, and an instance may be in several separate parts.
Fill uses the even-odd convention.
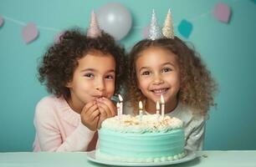
[[[90,17],[90,25],[89,25],[89,28],[87,29],[87,37],[97,38],[100,36],[101,36],[101,31],[99,28],[99,24],[97,22],[95,12],[92,11],[91,17]]]

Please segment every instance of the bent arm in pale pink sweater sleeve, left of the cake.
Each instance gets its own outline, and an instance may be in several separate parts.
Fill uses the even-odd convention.
[[[40,149],[42,151],[84,151],[94,131],[85,127],[84,124],[79,124],[73,133],[65,136],[64,131],[70,128],[67,127],[69,124],[61,122],[55,108],[56,106],[45,100],[36,108],[34,123]]]

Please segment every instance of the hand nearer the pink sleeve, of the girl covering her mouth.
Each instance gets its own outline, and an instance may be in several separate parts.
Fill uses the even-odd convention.
[[[81,112],[81,121],[87,128],[95,131],[100,120],[100,110],[95,101],[84,105]]]

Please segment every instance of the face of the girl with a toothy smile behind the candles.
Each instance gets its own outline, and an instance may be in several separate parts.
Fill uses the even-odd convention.
[[[176,103],[180,89],[180,70],[177,55],[163,48],[147,48],[136,60],[138,87],[146,96],[147,103],[161,101]]]

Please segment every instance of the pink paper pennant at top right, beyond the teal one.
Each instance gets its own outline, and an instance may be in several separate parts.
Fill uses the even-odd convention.
[[[214,17],[221,22],[228,23],[230,13],[230,7],[225,3],[217,3],[214,7]]]

